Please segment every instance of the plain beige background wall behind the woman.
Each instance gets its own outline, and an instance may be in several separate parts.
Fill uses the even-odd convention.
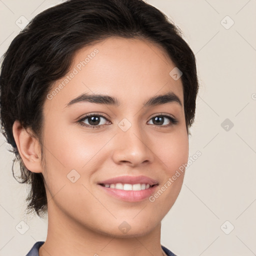
[[[0,55],[20,31],[20,16],[29,20],[58,2],[0,0]],[[178,256],[255,255],[256,0],[147,2],[181,28],[200,79],[189,155],[201,156],[162,220],[161,243]],[[23,213],[26,185],[12,177],[7,146],[0,136],[0,256],[25,255],[45,240],[47,219]],[[29,226],[24,234],[15,229],[20,221]]]

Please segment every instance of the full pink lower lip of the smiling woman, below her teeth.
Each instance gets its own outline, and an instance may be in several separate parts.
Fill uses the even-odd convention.
[[[152,187],[148,187],[142,190],[122,190],[122,189],[105,187],[101,185],[99,186],[110,195],[128,202],[136,202],[136,201],[141,201],[146,199],[154,192],[155,188],[157,187],[157,185],[154,185]]]

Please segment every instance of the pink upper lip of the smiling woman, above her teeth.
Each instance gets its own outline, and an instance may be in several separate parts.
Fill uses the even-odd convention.
[[[154,185],[154,184],[158,184],[158,181],[144,175],[140,175],[140,176],[125,175],[125,176],[109,178],[109,179],[98,182],[98,184],[115,184],[115,183],[124,183],[124,184],[146,183],[149,185]]]

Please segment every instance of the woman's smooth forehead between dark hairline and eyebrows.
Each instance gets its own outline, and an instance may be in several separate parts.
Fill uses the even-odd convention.
[[[64,107],[81,93],[90,93],[114,96],[120,105],[141,105],[146,98],[173,92],[183,105],[182,81],[172,78],[173,68],[158,44],[110,37],[76,52],[67,74],[53,84],[49,93],[54,96],[46,104]]]

